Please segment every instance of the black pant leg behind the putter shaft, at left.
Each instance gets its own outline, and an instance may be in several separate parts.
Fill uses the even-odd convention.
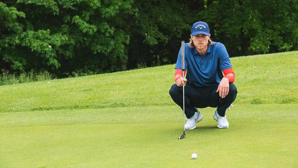
[[[173,84],[169,93],[173,101],[183,110],[183,86]],[[207,107],[206,96],[190,84],[186,84],[186,86],[184,86],[184,93],[185,115],[187,118],[190,118],[195,114],[196,109],[194,107]]]

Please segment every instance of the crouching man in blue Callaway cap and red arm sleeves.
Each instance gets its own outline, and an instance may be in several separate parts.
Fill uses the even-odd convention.
[[[212,42],[206,22],[193,24],[190,42],[185,44],[186,78],[182,77],[181,48],[175,66],[175,83],[169,93],[176,104],[183,109],[185,86],[185,115],[188,118],[185,129],[196,128],[203,119],[197,108],[217,107],[213,118],[219,128],[228,128],[226,109],[235,100],[237,89],[233,84],[235,75],[224,44]],[[223,75],[224,73],[224,75]]]

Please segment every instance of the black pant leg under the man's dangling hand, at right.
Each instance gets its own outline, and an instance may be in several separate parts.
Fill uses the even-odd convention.
[[[217,111],[220,116],[225,115],[226,109],[231,105],[231,103],[236,99],[237,95],[237,88],[235,84],[229,83],[229,91],[228,94],[222,98],[220,97],[220,93],[216,92],[217,87],[214,89],[214,91],[211,93],[211,99],[213,104],[209,105],[211,107],[217,106]]]

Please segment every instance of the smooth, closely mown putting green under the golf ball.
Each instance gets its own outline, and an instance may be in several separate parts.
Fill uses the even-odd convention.
[[[297,108],[234,104],[228,129],[201,109],[182,140],[177,106],[0,113],[0,167],[298,167]]]

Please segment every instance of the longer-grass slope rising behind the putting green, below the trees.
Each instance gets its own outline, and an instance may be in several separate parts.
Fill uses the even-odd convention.
[[[298,52],[231,58],[235,103],[298,103]],[[174,105],[174,65],[0,86],[0,112]]]

